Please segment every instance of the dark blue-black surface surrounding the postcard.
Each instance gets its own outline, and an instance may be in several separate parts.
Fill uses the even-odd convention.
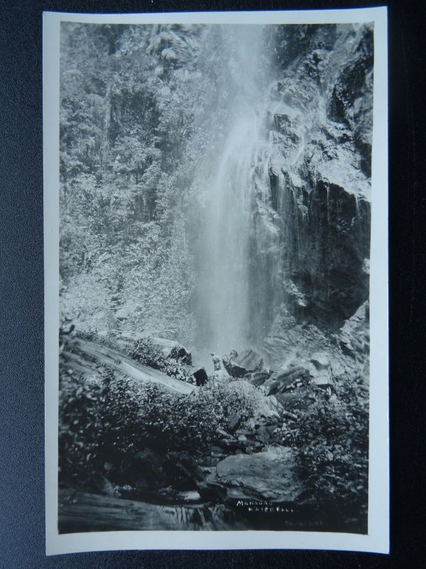
[[[43,10],[320,9],[364,1],[2,0],[0,5],[0,567],[417,568],[425,566],[425,23],[389,2],[391,555],[324,551],[115,552],[45,557]],[[377,3],[376,5],[383,5]]]

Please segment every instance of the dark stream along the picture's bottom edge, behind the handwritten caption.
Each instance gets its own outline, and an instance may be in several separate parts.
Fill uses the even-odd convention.
[[[192,494],[192,495],[190,495]],[[177,504],[155,504],[63,489],[59,495],[60,533],[81,531],[346,531],[354,523],[327,504],[269,504],[239,500],[233,506],[202,502],[197,493]],[[164,500],[165,501],[165,500]],[[163,501],[163,502],[164,502]]]

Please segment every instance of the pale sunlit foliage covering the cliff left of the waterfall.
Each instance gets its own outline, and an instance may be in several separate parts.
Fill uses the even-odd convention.
[[[229,36],[62,23],[60,309],[78,329],[118,328],[131,300],[128,329],[192,343],[194,203],[241,97]]]

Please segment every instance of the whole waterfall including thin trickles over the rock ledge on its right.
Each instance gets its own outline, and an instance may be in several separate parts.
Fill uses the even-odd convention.
[[[233,26],[225,37],[228,124],[202,179],[197,233],[197,347],[219,354],[260,347],[285,299],[297,263],[290,251],[300,250],[297,168],[308,121],[287,92],[274,94],[261,26]]]

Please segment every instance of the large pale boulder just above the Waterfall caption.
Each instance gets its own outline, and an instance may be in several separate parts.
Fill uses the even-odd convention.
[[[290,451],[235,454],[219,462],[216,472],[199,485],[202,496],[231,502],[244,499],[289,502],[303,490]]]

